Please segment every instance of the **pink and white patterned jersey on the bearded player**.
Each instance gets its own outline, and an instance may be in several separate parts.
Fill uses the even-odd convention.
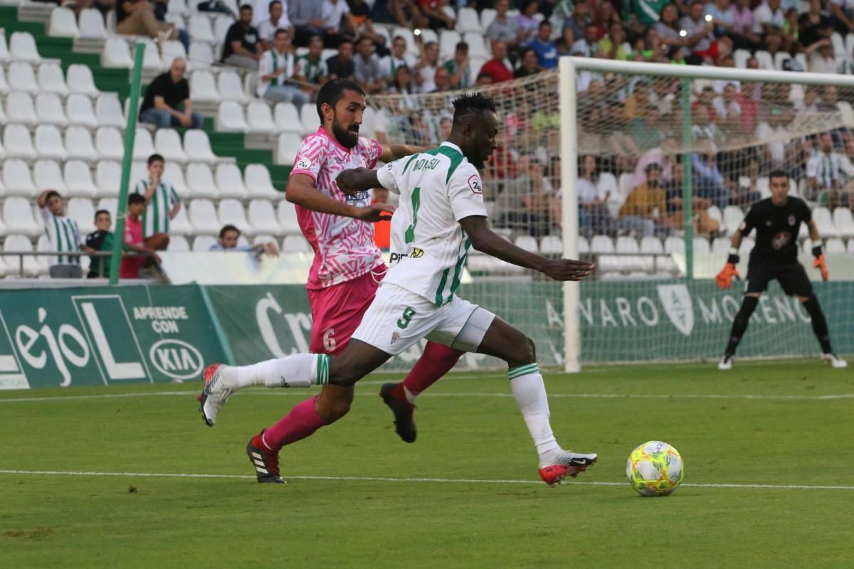
[[[302,141],[290,175],[312,177],[314,187],[333,200],[352,206],[368,206],[371,200],[367,192],[348,196],[338,189],[335,178],[348,168],[375,167],[381,154],[383,147],[375,140],[360,136],[354,148],[344,148],[320,127]],[[308,288],[325,288],[348,282],[383,264],[373,241],[373,224],[312,212],[301,206],[296,206],[296,219],[302,234],[314,249]]]

